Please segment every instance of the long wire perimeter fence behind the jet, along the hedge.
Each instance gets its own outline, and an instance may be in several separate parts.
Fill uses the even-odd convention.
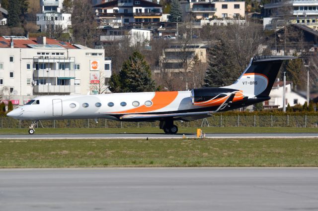
[[[190,122],[174,122],[178,127],[318,127],[318,115],[216,115]],[[0,128],[28,128],[29,120],[3,116]],[[44,128],[132,128],[159,127],[156,122],[120,122],[109,119],[41,120]]]

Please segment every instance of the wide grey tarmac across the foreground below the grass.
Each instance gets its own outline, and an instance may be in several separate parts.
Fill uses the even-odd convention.
[[[318,168],[2,169],[1,211],[313,211]]]

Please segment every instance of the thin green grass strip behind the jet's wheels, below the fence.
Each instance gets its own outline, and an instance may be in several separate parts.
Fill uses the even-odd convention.
[[[179,127],[179,134],[196,133],[196,127]],[[305,127],[202,127],[204,133],[318,133],[317,128]],[[36,134],[57,133],[163,133],[158,127],[131,128],[36,128]],[[0,129],[0,134],[27,134],[28,129]]]

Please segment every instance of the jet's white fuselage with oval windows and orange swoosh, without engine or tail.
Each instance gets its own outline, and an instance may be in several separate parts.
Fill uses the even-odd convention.
[[[38,104],[24,105],[14,109],[8,114],[13,118],[25,120],[76,118],[113,119],[114,117],[111,115],[114,114],[157,113],[197,108],[198,106],[193,106],[191,103],[190,93],[190,91],[180,91],[41,96],[33,99],[35,102],[38,101]],[[148,104],[146,106],[145,102],[147,101]]]

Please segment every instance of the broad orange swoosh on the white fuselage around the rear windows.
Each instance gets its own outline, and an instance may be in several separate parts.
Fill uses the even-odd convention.
[[[112,113],[145,113],[154,110],[158,110],[165,106],[171,104],[175,98],[178,96],[178,92],[155,92],[155,97],[151,100],[153,102],[152,106],[140,106],[129,110],[123,110],[119,112]]]

